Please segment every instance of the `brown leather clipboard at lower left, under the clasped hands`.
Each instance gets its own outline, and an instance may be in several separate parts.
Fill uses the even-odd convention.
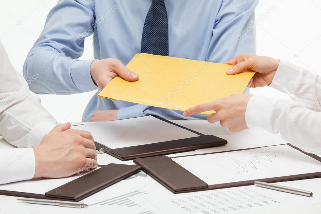
[[[76,178],[66,184],[58,186],[45,194],[24,193],[1,190],[0,195],[9,195],[26,198],[51,199],[61,201],[81,201],[82,199],[99,192],[141,170],[141,167],[125,164],[98,165],[96,169],[86,175]],[[34,182],[37,182],[36,180]]]

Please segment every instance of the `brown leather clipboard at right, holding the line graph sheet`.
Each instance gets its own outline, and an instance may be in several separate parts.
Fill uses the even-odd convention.
[[[160,182],[162,185],[164,185],[173,193],[187,193],[187,192],[195,192],[195,191],[205,191],[205,190],[253,185],[254,181],[257,181],[257,180],[273,183],[273,182],[321,177],[321,171],[320,171],[321,157],[315,154],[304,152],[291,144],[281,144],[281,145],[290,146],[291,148],[299,152],[302,152],[304,155],[307,155],[308,157],[313,158],[311,160],[315,161],[317,164],[320,164],[318,171],[303,173],[298,175],[285,175],[285,176],[278,176],[278,177],[267,177],[267,178],[244,180],[244,181],[238,181],[238,182],[226,181],[220,184],[207,184],[201,178],[199,178],[199,175],[196,176],[195,175],[196,173],[190,172],[185,167],[182,167],[180,164],[178,164],[173,160],[175,158],[204,156],[204,155],[219,154],[219,153],[224,154],[226,152],[252,150],[252,149],[265,148],[265,147],[256,147],[256,148],[250,148],[250,149],[241,149],[241,150],[232,150],[232,151],[223,151],[223,152],[213,152],[213,153],[197,154],[197,155],[178,156],[178,157],[171,157],[171,158],[167,156],[139,158],[139,159],[135,159],[134,163],[137,164],[138,166],[141,166],[144,171],[146,171],[155,180]],[[275,146],[281,146],[281,145],[275,145]],[[296,160],[296,161],[300,161],[300,160]],[[199,164],[201,165],[202,163],[199,163]],[[210,166],[208,166],[207,169],[211,170]],[[221,176],[220,172],[217,172],[216,176]]]

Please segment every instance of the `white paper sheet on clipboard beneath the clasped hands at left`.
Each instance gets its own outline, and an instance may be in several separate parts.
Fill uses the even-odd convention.
[[[100,167],[97,167],[92,170],[99,169]],[[89,172],[91,172],[90,170]],[[0,190],[7,190],[7,191],[16,191],[16,192],[22,192],[22,193],[36,193],[36,194],[45,194],[46,192],[55,189],[58,186],[61,186],[63,184],[66,184],[70,181],[73,181],[76,178],[79,178],[83,175],[86,175],[87,173],[83,173],[82,175],[73,175],[66,178],[55,178],[55,179],[46,179],[46,178],[40,178],[40,179],[34,179],[34,180],[28,180],[28,181],[19,181],[9,184],[2,184],[0,185]]]

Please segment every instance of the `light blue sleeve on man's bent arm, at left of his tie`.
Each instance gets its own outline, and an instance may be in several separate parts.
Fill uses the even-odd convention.
[[[61,0],[48,14],[45,27],[23,65],[30,90],[38,94],[74,94],[96,90],[93,61],[79,60],[84,39],[94,30],[94,1]]]

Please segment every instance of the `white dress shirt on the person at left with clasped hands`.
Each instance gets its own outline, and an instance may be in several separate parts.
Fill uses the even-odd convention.
[[[12,66],[0,42],[0,135],[17,147],[0,149],[0,184],[28,180],[35,173],[32,147],[56,125],[56,120],[29,92],[28,83]]]

